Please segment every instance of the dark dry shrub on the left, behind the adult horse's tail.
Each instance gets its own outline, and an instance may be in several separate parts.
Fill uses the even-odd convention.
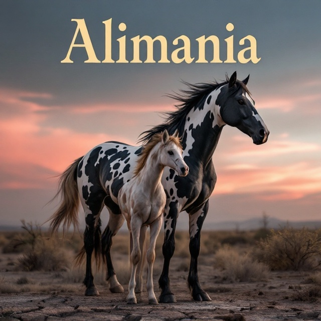
[[[57,271],[69,266],[66,251],[46,240],[36,243],[18,261],[24,271]]]

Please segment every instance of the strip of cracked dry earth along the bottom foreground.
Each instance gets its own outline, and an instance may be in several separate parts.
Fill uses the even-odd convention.
[[[234,293],[233,292],[237,292]],[[178,302],[150,306],[144,293],[140,303],[127,305],[123,294],[103,292],[100,297],[79,294],[1,295],[5,320],[298,320],[321,319],[320,302],[297,303],[278,298],[278,290],[266,289],[256,297],[255,291],[244,292],[240,286],[233,292],[212,294],[212,302],[194,302],[179,294]],[[257,291],[256,291],[257,292]],[[273,295],[274,293],[274,295]],[[264,295],[269,299],[264,299]],[[271,300],[274,298],[275,300]],[[320,316],[320,317],[319,317]]]

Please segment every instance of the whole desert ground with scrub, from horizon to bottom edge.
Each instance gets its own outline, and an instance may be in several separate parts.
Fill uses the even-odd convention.
[[[138,303],[128,305],[126,233],[117,234],[112,247],[115,270],[124,293],[111,293],[104,272],[94,270],[100,296],[87,297],[82,285],[84,267],[73,266],[82,245],[78,232],[67,234],[64,240],[60,237],[48,240],[48,235],[37,227],[26,223],[25,227],[23,231],[0,233],[0,317],[5,320],[321,320],[318,267],[321,247],[317,231],[303,231],[310,237],[308,245],[315,242],[313,255],[301,265],[296,262],[289,266],[275,265],[280,257],[268,258],[271,264],[267,264],[264,255],[269,247],[256,253],[259,242],[271,237],[268,231],[202,232],[199,277],[211,302],[196,302],[191,298],[187,287],[189,236],[178,231],[170,266],[171,287],[177,303],[148,305],[144,287],[137,296]],[[295,234],[299,232],[292,230],[295,240],[302,236]],[[153,273],[156,297],[163,264],[163,237],[161,232],[156,245]],[[295,251],[301,249],[296,247]]]

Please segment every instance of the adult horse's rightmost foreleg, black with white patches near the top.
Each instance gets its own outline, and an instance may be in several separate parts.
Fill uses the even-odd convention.
[[[212,301],[209,295],[202,289],[197,272],[198,256],[200,254],[201,247],[201,230],[208,209],[209,201],[206,201],[206,203],[197,212],[193,214],[189,213],[191,264],[188,284],[193,299],[196,301]]]

